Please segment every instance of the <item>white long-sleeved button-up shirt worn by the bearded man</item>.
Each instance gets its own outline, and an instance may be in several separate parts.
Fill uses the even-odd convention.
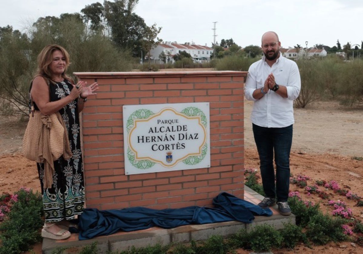
[[[277,85],[286,86],[287,98],[269,90],[260,99],[253,98],[253,91],[264,86],[268,75],[273,73]],[[246,99],[253,102],[251,122],[261,127],[282,128],[294,123],[293,101],[299,96],[301,88],[297,64],[280,53],[280,57],[270,67],[265,56],[254,62],[248,70],[244,87]]]

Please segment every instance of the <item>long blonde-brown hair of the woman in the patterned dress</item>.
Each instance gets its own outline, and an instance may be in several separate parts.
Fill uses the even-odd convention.
[[[66,74],[66,70],[70,64],[70,60],[69,60],[69,54],[67,52],[67,50],[65,50],[62,46],[56,45],[56,44],[52,44],[52,45],[47,45],[44,47],[44,49],[42,49],[42,51],[39,53],[37,61],[38,61],[38,69],[37,69],[37,73],[36,76],[41,75],[45,78],[48,79],[52,79],[52,73],[50,71],[49,65],[52,63],[53,61],[53,52],[56,50],[60,50],[63,53],[63,56],[65,58],[66,61],[66,66],[64,69],[64,73],[62,73],[62,77],[65,79],[70,79]]]

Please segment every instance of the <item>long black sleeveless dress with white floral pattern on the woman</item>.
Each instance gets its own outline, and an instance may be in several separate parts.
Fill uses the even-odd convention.
[[[57,101],[70,94],[72,84],[64,79],[62,82],[50,82],[50,101]],[[37,163],[42,188],[45,222],[72,220],[76,214],[81,214],[85,201],[83,162],[80,142],[80,127],[78,101],[69,102],[59,110],[72,150],[72,158],[63,157],[54,161],[52,188],[43,188],[44,164]],[[34,104],[36,110],[37,106]]]

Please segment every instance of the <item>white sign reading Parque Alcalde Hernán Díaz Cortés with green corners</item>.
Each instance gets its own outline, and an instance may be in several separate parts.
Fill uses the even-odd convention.
[[[209,168],[209,103],[123,106],[125,174]]]

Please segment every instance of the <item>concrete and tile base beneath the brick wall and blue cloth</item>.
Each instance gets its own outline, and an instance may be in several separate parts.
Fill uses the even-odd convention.
[[[263,197],[245,186],[245,200],[257,204]],[[150,228],[133,232],[119,232],[113,235],[95,237],[89,240],[78,240],[78,234],[72,234],[67,240],[56,241],[52,239],[43,239],[42,253],[51,254],[58,247],[64,247],[63,253],[79,253],[86,245],[97,241],[98,253],[107,251],[126,250],[132,246],[146,247],[148,245],[167,245],[177,242],[191,242],[192,240],[200,241],[208,239],[211,235],[229,235],[237,233],[240,229],[251,230],[257,225],[268,224],[275,229],[281,229],[286,223],[295,224],[295,216],[282,216],[278,213],[277,205],[272,208],[273,215],[270,217],[256,216],[251,224],[245,224],[238,221],[229,221],[203,225],[186,225],[173,229]]]

